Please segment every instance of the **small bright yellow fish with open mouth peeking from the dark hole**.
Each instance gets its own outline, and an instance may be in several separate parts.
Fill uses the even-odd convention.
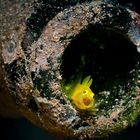
[[[89,110],[94,107],[94,93],[90,89],[92,81],[91,76],[87,76],[82,83],[81,80],[75,82],[69,90],[69,98],[81,110]]]

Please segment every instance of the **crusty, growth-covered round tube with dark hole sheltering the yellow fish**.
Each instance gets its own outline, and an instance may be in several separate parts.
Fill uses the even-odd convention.
[[[46,131],[94,139],[140,115],[140,17],[114,2],[38,0],[7,26],[1,75],[21,113]]]

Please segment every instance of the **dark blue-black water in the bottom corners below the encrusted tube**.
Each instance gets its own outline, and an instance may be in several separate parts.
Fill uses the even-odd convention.
[[[58,140],[24,118],[0,119],[0,140]],[[123,132],[100,140],[140,140],[140,121]]]

